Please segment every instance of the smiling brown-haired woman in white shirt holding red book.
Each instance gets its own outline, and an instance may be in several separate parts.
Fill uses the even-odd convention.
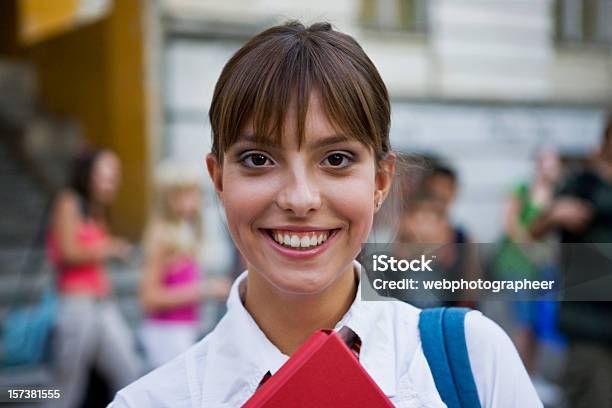
[[[396,406],[445,406],[421,348],[420,310],[365,302],[355,258],[387,197],[390,103],[359,44],[327,23],[273,27],[215,88],[208,172],[247,270],[202,341],[118,393],[115,407],[237,407],[316,330],[348,327]],[[512,343],[466,316],[482,406],[541,406]]]

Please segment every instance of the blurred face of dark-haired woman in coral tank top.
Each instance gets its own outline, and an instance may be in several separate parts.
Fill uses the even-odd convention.
[[[112,152],[102,152],[96,159],[91,173],[91,192],[94,201],[110,204],[121,184],[121,164]]]

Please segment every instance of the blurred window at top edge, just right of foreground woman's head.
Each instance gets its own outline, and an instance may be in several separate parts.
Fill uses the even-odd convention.
[[[384,31],[427,31],[427,0],[361,0],[363,26]]]

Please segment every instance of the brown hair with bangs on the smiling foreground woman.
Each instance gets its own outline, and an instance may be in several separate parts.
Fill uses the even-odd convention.
[[[301,146],[314,90],[338,130],[371,147],[377,160],[386,156],[391,109],[376,67],[357,41],[329,23],[306,28],[297,21],[256,35],[223,68],[209,112],[212,153],[222,161],[247,121],[257,141],[280,144],[294,99]]]

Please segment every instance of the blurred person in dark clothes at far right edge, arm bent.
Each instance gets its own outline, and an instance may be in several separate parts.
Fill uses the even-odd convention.
[[[585,257],[583,251],[594,247],[594,243],[603,248],[612,243],[611,116],[605,124],[601,146],[586,168],[564,181],[558,197],[530,228],[536,238],[551,230],[561,231],[562,243],[566,244],[561,252],[564,279],[589,283],[592,276],[598,287],[609,291],[604,278],[612,273],[610,253],[591,250]],[[570,258],[569,247],[583,256]],[[569,345],[565,373],[569,405],[612,407],[612,303],[564,301],[559,313],[560,329]]]

